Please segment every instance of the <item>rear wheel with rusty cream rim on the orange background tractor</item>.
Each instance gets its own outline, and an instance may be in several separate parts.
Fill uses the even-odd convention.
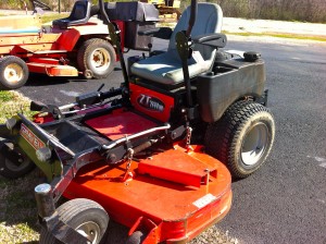
[[[86,40],[77,53],[77,63],[79,69],[92,74],[95,78],[106,77],[114,68],[116,60],[115,51],[112,45],[103,39],[92,38]],[[85,75],[86,78],[91,78]]]

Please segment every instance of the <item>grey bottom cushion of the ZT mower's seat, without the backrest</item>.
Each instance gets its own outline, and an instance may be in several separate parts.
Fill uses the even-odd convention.
[[[196,53],[198,56],[199,53]],[[195,77],[211,66],[211,61],[192,57],[188,59],[189,76]],[[181,60],[175,50],[134,63],[131,73],[164,85],[177,85],[184,81]]]

